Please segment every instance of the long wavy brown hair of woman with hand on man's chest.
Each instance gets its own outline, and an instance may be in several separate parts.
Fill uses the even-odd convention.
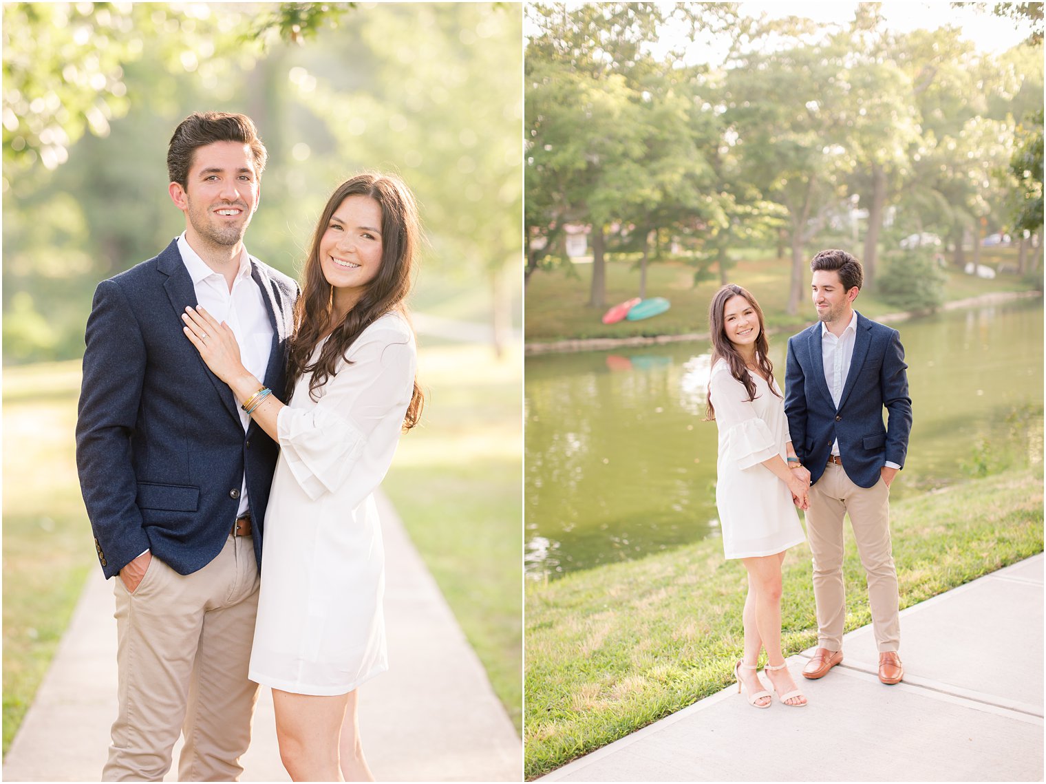
[[[309,358],[334,318],[333,287],[323,276],[320,265],[320,240],[335,210],[349,196],[368,196],[382,209],[381,266],[360,300],[340,323],[334,324],[320,356],[309,364]],[[294,336],[287,352],[288,389],[293,391],[302,374],[311,373],[313,377],[309,382],[309,395],[317,400],[320,387],[335,375],[338,361],[345,358],[360,333],[386,313],[396,312],[407,317],[405,300],[413,283],[412,273],[420,241],[417,204],[410,188],[397,177],[359,174],[335,189],[316,224],[312,248],[301,273],[301,295],[294,307]],[[404,417],[404,430],[417,424],[424,404],[425,396],[415,377],[414,391]]]

